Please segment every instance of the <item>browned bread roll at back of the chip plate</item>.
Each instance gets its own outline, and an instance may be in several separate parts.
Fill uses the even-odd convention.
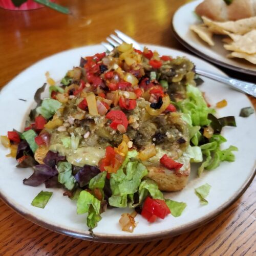
[[[205,0],[195,11],[199,16],[219,22],[238,20],[256,15],[256,0],[233,0],[230,5],[224,0]]]

